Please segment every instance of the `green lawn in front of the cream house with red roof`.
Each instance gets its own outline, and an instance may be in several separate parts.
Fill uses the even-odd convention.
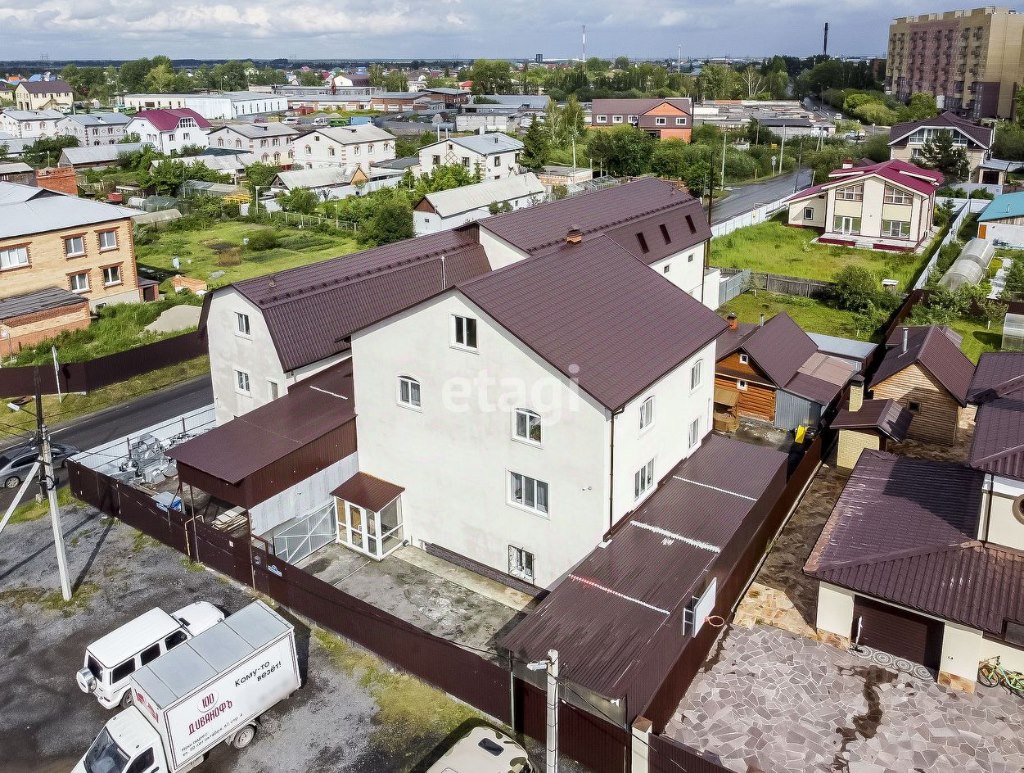
[[[900,289],[905,289],[924,262],[923,256],[912,253],[812,244],[816,238],[817,233],[808,228],[792,228],[769,220],[714,240],[711,264],[822,282],[830,282],[840,268],[855,265],[871,271],[880,281],[898,280]]]

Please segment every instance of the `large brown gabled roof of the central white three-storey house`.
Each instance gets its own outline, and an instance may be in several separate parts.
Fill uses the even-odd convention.
[[[725,329],[715,312],[602,235],[459,290],[612,411]]]

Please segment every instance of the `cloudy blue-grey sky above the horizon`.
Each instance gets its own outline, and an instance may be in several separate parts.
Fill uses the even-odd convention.
[[[941,6],[941,3],[939,4]],[[0,60],[808,55],[885,51],[921,0],[0,0]]]

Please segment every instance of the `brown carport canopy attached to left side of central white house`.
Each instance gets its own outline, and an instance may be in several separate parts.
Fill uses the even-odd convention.
[[[355,453],[351,360],[167,452],[182,483],[252,508]]]

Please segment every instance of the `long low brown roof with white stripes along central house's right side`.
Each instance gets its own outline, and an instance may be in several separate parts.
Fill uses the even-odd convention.
[[[607,698],[652,669],[667,674],[671,663],[645,659],[655,635],[679,626],[682,640],[680,607],[785,467],[785,454],[710,435],[502,646],[529,660],[557,649],[562,676]]]

